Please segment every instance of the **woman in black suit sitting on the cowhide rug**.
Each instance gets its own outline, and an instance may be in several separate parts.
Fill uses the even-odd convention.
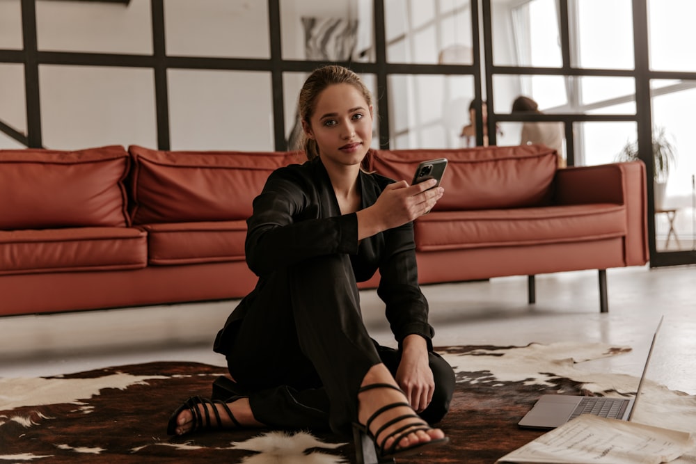
[[[214,345],[234,382],[212,400],[189,399],[168,433],[267,426],[345,434],[353,424],[383,457],[441,445],[443,431],[425,421],[447,412],[454,374],[432,351],[411,221],[443,189],[361,170],[372,100],[345,67],[313,72],[299,111],[309,161],[276,170],[255,198],[246,260],[258,284]],[[397,350],[374,342],[361,319],[356,282],[377,269]]]

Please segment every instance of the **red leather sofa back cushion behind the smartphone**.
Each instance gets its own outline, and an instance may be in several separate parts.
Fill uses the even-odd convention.
[[[370,169],[411,182],[420,161],[447,158],[435,210],[540,206],[551,199],[555,150],[544,145],[443,150],[372,150]]]

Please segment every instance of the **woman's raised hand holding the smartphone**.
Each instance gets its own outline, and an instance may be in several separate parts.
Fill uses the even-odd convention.
[[[409,186],[406,181],[386,186],[374,205],[358,211],[358,240],[404,225],[429,212],[445,189],[429,179]],[[435,187],[435,188],[434,188]]]

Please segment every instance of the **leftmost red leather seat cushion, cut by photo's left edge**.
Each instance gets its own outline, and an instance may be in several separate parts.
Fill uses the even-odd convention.
[[[141,269],[147,246],[130,227],[0,230],[0,275]]]

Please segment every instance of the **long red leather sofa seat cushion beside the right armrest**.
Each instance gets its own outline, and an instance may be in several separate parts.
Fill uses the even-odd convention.
[[[614,203],[442,211],[414,225],[416,250],[524,246],[623,237],[626,207]]]

